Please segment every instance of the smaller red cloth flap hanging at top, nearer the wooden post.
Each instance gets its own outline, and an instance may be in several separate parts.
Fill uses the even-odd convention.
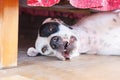
[[[43,6],[43,7],[51,7],[60,0],[27,0],[28,6]]]

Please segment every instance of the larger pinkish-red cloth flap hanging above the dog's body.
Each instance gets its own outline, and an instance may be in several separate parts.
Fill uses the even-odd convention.
[[[102,11],[120,8],[120,0],[70,0],[70,4],[77,8],[92,8]]]

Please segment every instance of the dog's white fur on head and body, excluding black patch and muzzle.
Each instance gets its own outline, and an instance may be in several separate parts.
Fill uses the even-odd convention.
[[[63,22],[59,20],[45,20],[43,23],[56,21],[60,23],[60,32],[43,38],[38,35],[35,48],[28,49],[29,56],[36,56],[41,52],[43,45],[48,45],[48,50],[44,55],[54,53],[61,60],[65,58],[54,51],[50,45],[51,37],[58,35],[66,40],[70,40],[70,36],[74,35],[77,41],[74,43],[75,49],[70,53],[70,59],[79,56],[81,53],[100,54],[100,55],[120,55],[120,11],[97,13],[92,16],[83,18],[77,24],[71,26],[73,30],[69,30]],[[42,42],[42,43],[41,43]]]

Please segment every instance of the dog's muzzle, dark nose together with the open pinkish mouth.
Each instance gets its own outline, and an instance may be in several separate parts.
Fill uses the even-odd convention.
[[[70,59],[70,52],[74,49],[75,36],[71,36],[70,40],[63,41],[60,36],[54,36],[51,38],[50,46],[60,52],[66,60]]]

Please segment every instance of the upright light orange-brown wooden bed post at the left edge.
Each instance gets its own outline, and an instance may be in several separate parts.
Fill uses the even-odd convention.
[[[17,66],[18,2],[0,0],[0,68]]]

